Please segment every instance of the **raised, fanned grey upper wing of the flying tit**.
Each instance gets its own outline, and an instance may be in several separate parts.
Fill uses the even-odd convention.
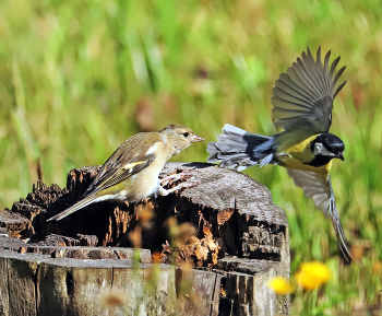
[[[276,118],[275,127],[285,130],[303,128],[312,134],[329,131],[332,124],[333,100],[343,89],[346,81],[336,83],[346,67],[334,70],[339,61],[335,59],[329,69],[329,51],[321,61],[321,47],[317,51],[317,60],[308,48],[301,58],[283,72],[273,89],[272,114]]]

